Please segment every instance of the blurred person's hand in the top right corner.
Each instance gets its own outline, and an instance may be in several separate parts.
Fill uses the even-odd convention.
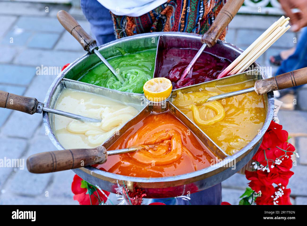
[[[280,0],[282,9],[290,17],[293,31],[299,31],[307,26],[307,0]],[[300,12],[293,13],[292,9],[299,9]]]

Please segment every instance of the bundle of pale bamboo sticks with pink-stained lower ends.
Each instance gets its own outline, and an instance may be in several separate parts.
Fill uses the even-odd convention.
[[[274,22],[259,38],[255,40],[239,57],[237,57],[217,78],[245,71],[255,60],[258,59],[290,26],[290,18],[282,16]]]

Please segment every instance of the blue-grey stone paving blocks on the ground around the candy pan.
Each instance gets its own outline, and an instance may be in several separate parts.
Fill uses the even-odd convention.
[[[48,7],[48,12],[46,12]],[[56,19],[58,10],[71,10],[83,28],[90,33],[88,22],[80,10],[68,5],[0,1],[0,90],[44,101],[56,75],[36,75],[36,67],[58,66],[85,54],[78,42]],[[242,49],[251,44],[277,20],[276,16],[237,15],[231,22],[227,42]],[[294,46],[297,34],[288,31],[259,59],[269,65],[268,57]],[[274,68],[276,70],[276,68]],[[290,133],[300,154],[290,180],[295,204],[307,204],[307,89],[301,89],[295,111],[280,111],[280,123]],[[0,158],[26,159],[29,155],[54,150],[45,134],[40,114],[27,115],[0,109]],[[26,169],[0,169],[0,204],[77,204],[72,200],[72,171],[31,174]],[[238,204],[238,197],[247,187],[244,175],[235,174],[223,182],[223,201]],[[48,196],[47,196],[48,195]],[[114,198],[114,197],[113,197]],[[114,200],[113,200],[114,201]]]

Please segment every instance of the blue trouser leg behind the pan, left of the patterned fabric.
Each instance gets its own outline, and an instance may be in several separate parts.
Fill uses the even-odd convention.
[[[108,9],[97,0],[81,0],[80,6],[85,18],[91,24],[92,35],[98,46],[115,40],[114,25]]]

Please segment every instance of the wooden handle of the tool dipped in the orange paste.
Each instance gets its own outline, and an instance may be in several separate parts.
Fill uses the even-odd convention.
[[[27,168],[32,173],[47,173],[102,164],[106,161],[107,150],[99,146],[93,149],[68,149],[31,155],[27,159]]]

